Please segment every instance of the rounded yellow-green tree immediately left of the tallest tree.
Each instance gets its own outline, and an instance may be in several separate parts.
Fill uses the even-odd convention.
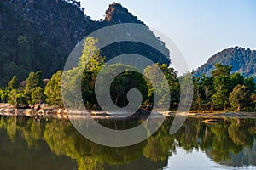
[[[57,71],[47,83],[44,94],[49,105],[63,106],[61,95],[62,71]]]

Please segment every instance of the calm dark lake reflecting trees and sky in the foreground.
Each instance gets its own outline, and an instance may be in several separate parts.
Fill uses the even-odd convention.
[[[85,139],[68,120],[1,116],[0,169],[256,169],[256,119],[188,118],[170,135],[172,120],[140,144],[111,148]],[[99,122],[125,128],[142,120]]]

